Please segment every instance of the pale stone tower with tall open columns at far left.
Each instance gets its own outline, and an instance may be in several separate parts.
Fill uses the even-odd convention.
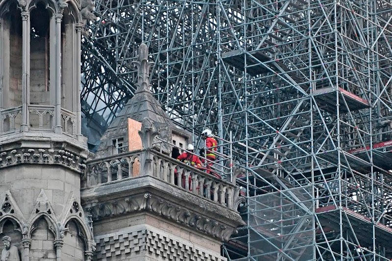
[[[92,8],[0,0],[0,237],[23,261],[91,260],[95,249],[80,205],[80,39]]]

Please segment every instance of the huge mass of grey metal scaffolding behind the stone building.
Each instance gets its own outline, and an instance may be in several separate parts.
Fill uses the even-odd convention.
[[[205,127],[232,141],[245,169],[230,260],[391,260],[390,0],[96,0],[96,12],[86,130],[99,136],[133,95],[145,42],[168,115],[196,145]]]

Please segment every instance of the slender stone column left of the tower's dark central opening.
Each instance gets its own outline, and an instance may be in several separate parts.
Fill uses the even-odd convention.
[[[28,88],[27,86],[28,83],[28,64],[30,62],[30,55],[28,53],[29,45],[30,45],[30,28],[28,26],[28,18],[29,18],[29,13],[28,12],[22,12],[22,39],[23,39],[23,45],[22,45],[22,62],[23,62],[23,68],[22,68],[22,124],[21,124],[21,130],[22,131],[28,131]]]

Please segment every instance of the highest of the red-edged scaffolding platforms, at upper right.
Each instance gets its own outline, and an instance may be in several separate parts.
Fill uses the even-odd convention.
[[[339,92],[339,104],[344,105],[344,100],[347,106],[340,106],[342,112],[358,111],[361,109],[369,108],[370,104],[366,99],[363,99],[357,95],[354,95],[343,88],[338,88]],[[317,89],[313,92],[316,101],[319,102],[321,109],[336,114],[337,100],[336,100],[336,89],[332,87]],[[343,100],[344,99],[344,100]]]

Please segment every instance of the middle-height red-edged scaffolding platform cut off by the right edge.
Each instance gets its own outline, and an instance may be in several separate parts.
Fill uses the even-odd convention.
[[[348,150],[347,152],[361,159],[368,158],[370,146]],[[385,170],[392,169],[392,141],[373,144],[373,164]]]

